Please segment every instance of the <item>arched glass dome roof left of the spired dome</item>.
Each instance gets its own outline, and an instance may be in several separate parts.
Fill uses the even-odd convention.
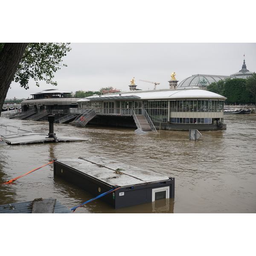
[[[177,87],[199,87],[199,86],[208,86],[213,82],[218,82],[229,78],[230,76],[214,76],[214,75],[192,75],[183,81],[181,81]]]

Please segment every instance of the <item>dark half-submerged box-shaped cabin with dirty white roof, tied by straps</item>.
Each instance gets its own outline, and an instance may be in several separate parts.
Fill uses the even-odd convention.
[[[104,157],[55,160],[54,175],[67,180],[113,208],[174,198],[175,178],[140,169]]]

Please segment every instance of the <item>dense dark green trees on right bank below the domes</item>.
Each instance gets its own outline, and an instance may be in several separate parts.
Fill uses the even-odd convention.
[[[226,97],[225,103],[227,105],[254,105],[256,102],[256,73],[247,79],[228,78],[211,83],[207,86],[207,90]]]

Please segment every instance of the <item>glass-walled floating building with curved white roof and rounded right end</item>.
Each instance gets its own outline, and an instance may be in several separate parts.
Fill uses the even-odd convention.
[[[93,108],[99,114],[121,115],[146,111],[155,127],[166,130],[220,130],[224,96],[198,87],[180,90],[129,91],[90,96],[78,101],[79,108]],[[130,111],[130,112],[129,112]]]

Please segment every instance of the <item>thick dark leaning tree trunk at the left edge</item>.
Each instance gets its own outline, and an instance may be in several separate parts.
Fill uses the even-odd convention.
[[[6,43],[0,52],[0,114],[12,79],[29,43]]]

